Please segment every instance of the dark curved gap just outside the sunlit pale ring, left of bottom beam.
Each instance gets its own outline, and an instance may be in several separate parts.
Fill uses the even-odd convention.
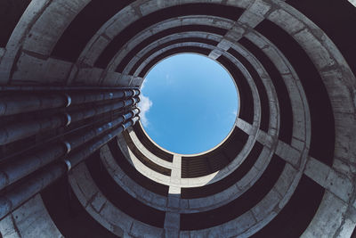
[[[169,187],[167,185],[158,184],[157,182],[150,180],[150,178],[148,178],[147,176],[143,176],[125,159],[125,156],[118,147],[117,141],[115,139],[111,140],[108,145],[112,156],[117,161],[117,165],[122,170],[124,170],[125,175],[133,179],[134,182],[136,182],[138,185],[142,185],[142,187],[150,190],[153,193],[158,193],[162,196],[168,195]]]

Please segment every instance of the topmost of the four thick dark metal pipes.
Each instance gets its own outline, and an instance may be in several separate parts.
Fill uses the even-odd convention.
[[[29,111],[68,107],[70,104],[94,103],[120,99],[140,94],[138,89],[110,92],[66,93],[66,94],[27,94],[7,96],[0,100],[0,116],[14,115]]]

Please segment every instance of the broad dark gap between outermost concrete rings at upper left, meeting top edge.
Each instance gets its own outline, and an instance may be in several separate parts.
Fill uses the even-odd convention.
[[[132,0],[92,0],[79,12],[63,32],[52,55],[69,62],[76,62],[85,45],[101,26]]]

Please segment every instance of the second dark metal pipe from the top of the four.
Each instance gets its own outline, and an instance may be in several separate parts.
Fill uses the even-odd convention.
[[[102,113],[117,110],[127,106],[134,105],[139,102],[139,98],[131,98],[118,103],[109,103],[91,109],[77,111],[71,115],[66,113],[65,116],[53,116],[47,119],[38,119],[24,123],[13,123],[4,127],[0,127],[0,145],[9,144],[14,141],[26,138],[30,135],[44,132],[48,129],[69,126],[71,122],[76,122],[82,119],[88,119]]]

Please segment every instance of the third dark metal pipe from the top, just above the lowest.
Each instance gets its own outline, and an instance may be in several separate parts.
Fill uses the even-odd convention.
[[[4,164],[0,169],[0,190],[8,185],[12,185],[20,178],[28,176],[38,168],[42,168],[50,162],[57,160],[61,156],[76,149],[78,146],[85,144],[96,136],[107,132],[113,127],[117,127],[125,120],[132,119],[139,112],[138,109],[134,109],[124,115],[120,115],[117,119],[101,124],[99,127],[80,135],[69,137],[64,143],[53,144],[48,149],[44,149],[44,151],[37,152],[34,155],[21,158],[20,160],[12,160],[11,162]]]

